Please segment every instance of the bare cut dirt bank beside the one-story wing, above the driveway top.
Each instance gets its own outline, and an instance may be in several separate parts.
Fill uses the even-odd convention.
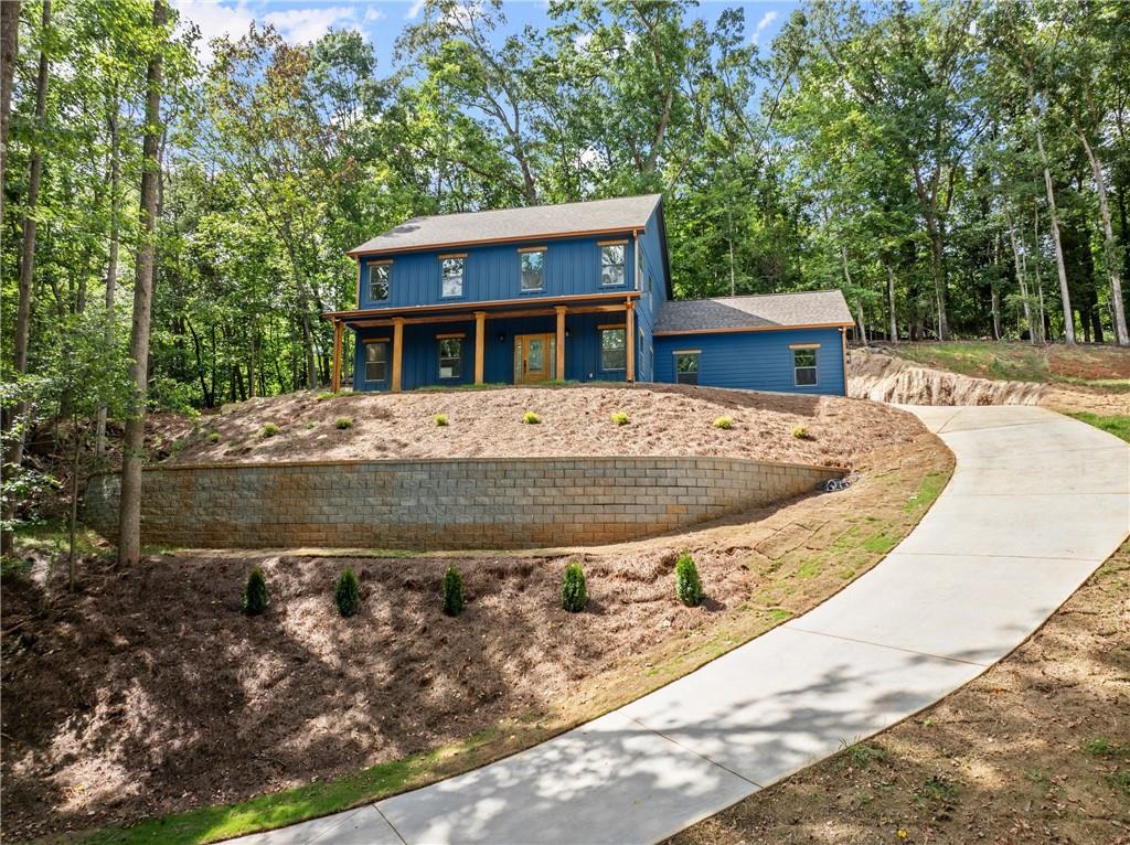
[[[873,349],[853,349],[847,394],[898,404],[1041,404],[1049,387],[932,369]]]

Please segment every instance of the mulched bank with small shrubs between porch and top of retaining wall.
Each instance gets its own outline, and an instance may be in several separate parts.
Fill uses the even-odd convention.
[[[527,411],[540,418],[523,424]],[[611,415],[623,411],[628,424]],[[446,426],[435,416],[444,415]],[[732,427],[716,428],[719,417]],[[348,427],[337,424],[348,420]],[[278,428],[264,436],[268,425]],[[854,465],[916,436],[918,421],[838,397],[638,384],[356,393],[289,393],[225,407],[183,436],[169,462],[259,462],[557,455],[729,455]]]

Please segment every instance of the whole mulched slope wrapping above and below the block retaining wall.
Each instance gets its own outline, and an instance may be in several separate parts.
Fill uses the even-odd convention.
[[[678,535],[542,551],[183,550],[123,572],[86,533],[76,593],[46,570],[50,532],[25,533],[28,572],[2,580],[6,840],[122,825],[95,840],[214,840],[513,752],[836,592],[953,464],[893,408],[673,385],[292,395],[194,427],[165,417],[149,445],[177,465],[734,456],[844,467],[852,484]],[[697,606],[676,594],[684,554]],[[566,602],[572,563],[584,590],[574,578]]]

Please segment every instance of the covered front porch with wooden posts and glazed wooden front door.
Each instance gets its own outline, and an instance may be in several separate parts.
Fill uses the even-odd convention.
[[[332,387],[345,330],[356,336],[357,391],[637,375],[637,291],[324,314],[333,323]]]

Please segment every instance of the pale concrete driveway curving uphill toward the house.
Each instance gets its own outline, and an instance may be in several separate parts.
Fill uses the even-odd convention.
[[[976,677],[1125,538],[1130,448],[1041,408],[907,410],[954,451],[954,478],[824,604],[513,757],[240,842],[655,842]]]

